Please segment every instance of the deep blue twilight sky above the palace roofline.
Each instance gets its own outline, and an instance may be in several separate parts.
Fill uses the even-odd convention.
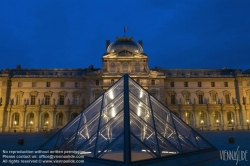
[[[0,0],[0,69],[99,68],[124,26],[151,68],[250,69],[250,0]]]

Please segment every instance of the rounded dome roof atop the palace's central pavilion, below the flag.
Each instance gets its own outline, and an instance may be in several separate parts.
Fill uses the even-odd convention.
[[[143,53],[142,46],[133,41],[133,38],[116,38],[116,41],[111,43],[107,48],[107,53],[120,52],[127,50],[134,53]]]

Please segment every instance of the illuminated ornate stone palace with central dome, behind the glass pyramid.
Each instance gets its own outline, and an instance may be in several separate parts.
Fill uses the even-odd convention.
[[[2,69],[0,131],[58,130],[126,73],[193,128],[249,129],[250,70],[150,69],[124,36],[106,41],[101,68]]]

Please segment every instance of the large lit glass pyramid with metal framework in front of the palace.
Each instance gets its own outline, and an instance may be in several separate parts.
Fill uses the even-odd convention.
[[[214,148],[126,74],[39,149],[129,164]]]

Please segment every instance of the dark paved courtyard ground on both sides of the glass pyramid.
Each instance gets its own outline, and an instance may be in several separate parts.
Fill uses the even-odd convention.
[[[249,131],[199,131],[200,134],[210,141],[221,152],[238,152],[245,154],[244,161],[239,158],[234,161],[220,161],[212,165],[226,166],[249,166],[250,165],[250,130]],[[2,150],[37,150],[45,141],[47,141],[55,133],[0,133],[0,149]],[[234,137],[234,143],[228,142],[228,137]],[[18,145],[18,139],[24,139],[24,145]],[[247,153],[246,153],[247,152]],[[241,155],[242,156],[242,155]],[[244,156],[243,156],[244,157]],[[247,160],[247,161],[246,161]],[[0,165],[6,165],[1,162]],[[20,165],[20,164],[14,164]],[[21,164],[22,165],[22,164]],[[26,164],[35,165],[35,164]]]

